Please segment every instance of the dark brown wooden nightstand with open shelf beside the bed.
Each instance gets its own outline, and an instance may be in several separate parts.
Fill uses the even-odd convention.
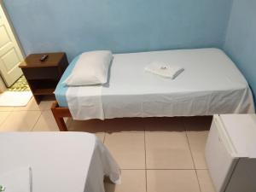
[[[48,55],[48,57],[45,61],[40,61],[43,55]],[[26,77],[33,96],[39,103],[43,96],[53,95],[67,65],[67,55],[61,52],[28,55],[19,67]]]

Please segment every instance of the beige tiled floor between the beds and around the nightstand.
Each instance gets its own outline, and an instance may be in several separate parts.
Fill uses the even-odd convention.
[[[0,131],[58,131],[50,101],[0,108]],[[211,118],[73,121],[70,131],[94,132],[122,169],[122,184],[107,192],[214,192],[204,147]]]

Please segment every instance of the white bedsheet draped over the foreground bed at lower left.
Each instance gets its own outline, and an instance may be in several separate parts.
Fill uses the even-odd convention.
[[[89,133],[1,133],[0,151],[0,172],[32,167],[33,192],[104,192],[104,175],[120,181],[119,166]]]

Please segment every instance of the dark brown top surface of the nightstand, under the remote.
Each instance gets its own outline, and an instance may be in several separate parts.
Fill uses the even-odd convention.
[[[48,55],[45,61],[40,61],[40,58],[43,55]],[[26,59],[20,63],[20,68],[29,68],[29,67],[55,67],[58,66],[62,58],[66,54],[64,52],[58,53],[40,53],[40,54],[31,54],[26,57]]]

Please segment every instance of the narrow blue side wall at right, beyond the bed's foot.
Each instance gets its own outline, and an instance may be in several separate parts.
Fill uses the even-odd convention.
[[[256,1],[234,0],[224,44],[256,96]]]

